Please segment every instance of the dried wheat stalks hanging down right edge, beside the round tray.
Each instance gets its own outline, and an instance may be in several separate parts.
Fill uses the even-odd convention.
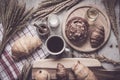
[[[116,14],[115,14],[115,5],[116,5],[116,1],[117,0],[103,0],[103,3],[105,5],[106,8],[106,12],[109,16],[109,19],[111,21],[112,24],[112,30],[116,36],[117,39],[117,43],[118,43],[118,48],[119,48],[119,53],[120,53],[120,33],[117,27],[117,19],[116,19]]]

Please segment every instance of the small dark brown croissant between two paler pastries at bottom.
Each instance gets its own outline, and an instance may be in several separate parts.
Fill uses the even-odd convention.
[[[58,63],[57,64],[57,80],[69,80],[69,74],[64,65]]]

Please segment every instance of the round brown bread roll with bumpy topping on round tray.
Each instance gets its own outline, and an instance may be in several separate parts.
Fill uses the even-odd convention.
[[[75,45],[80,46],[88,37],[88,22],[81,17],[73,17],[66,24],[67,38]]]

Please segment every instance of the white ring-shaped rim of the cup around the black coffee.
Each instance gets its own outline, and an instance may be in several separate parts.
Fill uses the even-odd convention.
[[[63,41],[63,48],[62,48],[59,52],[51,52],[51,51],[48,49],[48,47],[47,47],[47,42],[48,42],[48,40],[49,40],[50,38],[52,38],[52,37],[59,37],[59,38]],[[48,52],[49,54],[51,54],[51,55],[59,55],[59,54],[61,54],[61,53],[65,50],[65,41],[64,41],[64,39],[62,38],[62,36],[51,35],[51,36],[49,36],[48,39],[46,40],[45,46],[46,46],[47,52]]]

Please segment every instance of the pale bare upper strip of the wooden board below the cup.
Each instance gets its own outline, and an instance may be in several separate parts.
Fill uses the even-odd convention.
[[[55,69],[58,63],[63,64],[66,68],[71,68],[77,61],[88,67],[100,67],[101,63],[91,58],[62,58],[62,59],[40,59],[33,62],[33,68],[50,68]]]

